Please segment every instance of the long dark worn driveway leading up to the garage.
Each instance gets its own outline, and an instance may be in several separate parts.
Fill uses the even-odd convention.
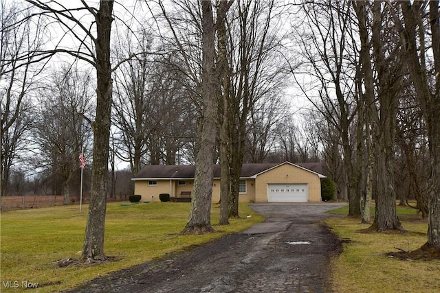
[[[252,204],[265,222],[70,292],[331,292],[329,261],[341,244],[318,222],[343,205]]]

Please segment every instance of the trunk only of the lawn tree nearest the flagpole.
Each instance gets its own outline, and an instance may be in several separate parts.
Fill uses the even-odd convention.
[[[96,117],[93,124],[94,150],[91,172],[89,214],[81,259],[105,259],[104,222],[107,200],[107,174],[109,163],[109,137],[112,102],[110,36],[113,21],[113,2],[100,1],[95,15],[98,37],[96,45]]]

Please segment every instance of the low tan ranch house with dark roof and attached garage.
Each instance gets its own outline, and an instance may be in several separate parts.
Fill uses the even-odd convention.
[[[320,163],[253,163],[243,164],[239,182],[240,202],[320,202],[321,178],[313,171]],[[220,167],[214,165],[212,202],[220,199]],[[173,200],[190,200],[195,165],[146,165],[132,180],[134,194],[142,201],[159,202],[159,194]]]

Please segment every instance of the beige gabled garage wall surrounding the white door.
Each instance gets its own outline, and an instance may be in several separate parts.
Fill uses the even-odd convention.
[[[268,185],[272,183],[306,183],[309,191],[308,201],[321,201],[321,182],[318,174],[294,165],[283,164],[256,176],[255,202],[267,202]]]

